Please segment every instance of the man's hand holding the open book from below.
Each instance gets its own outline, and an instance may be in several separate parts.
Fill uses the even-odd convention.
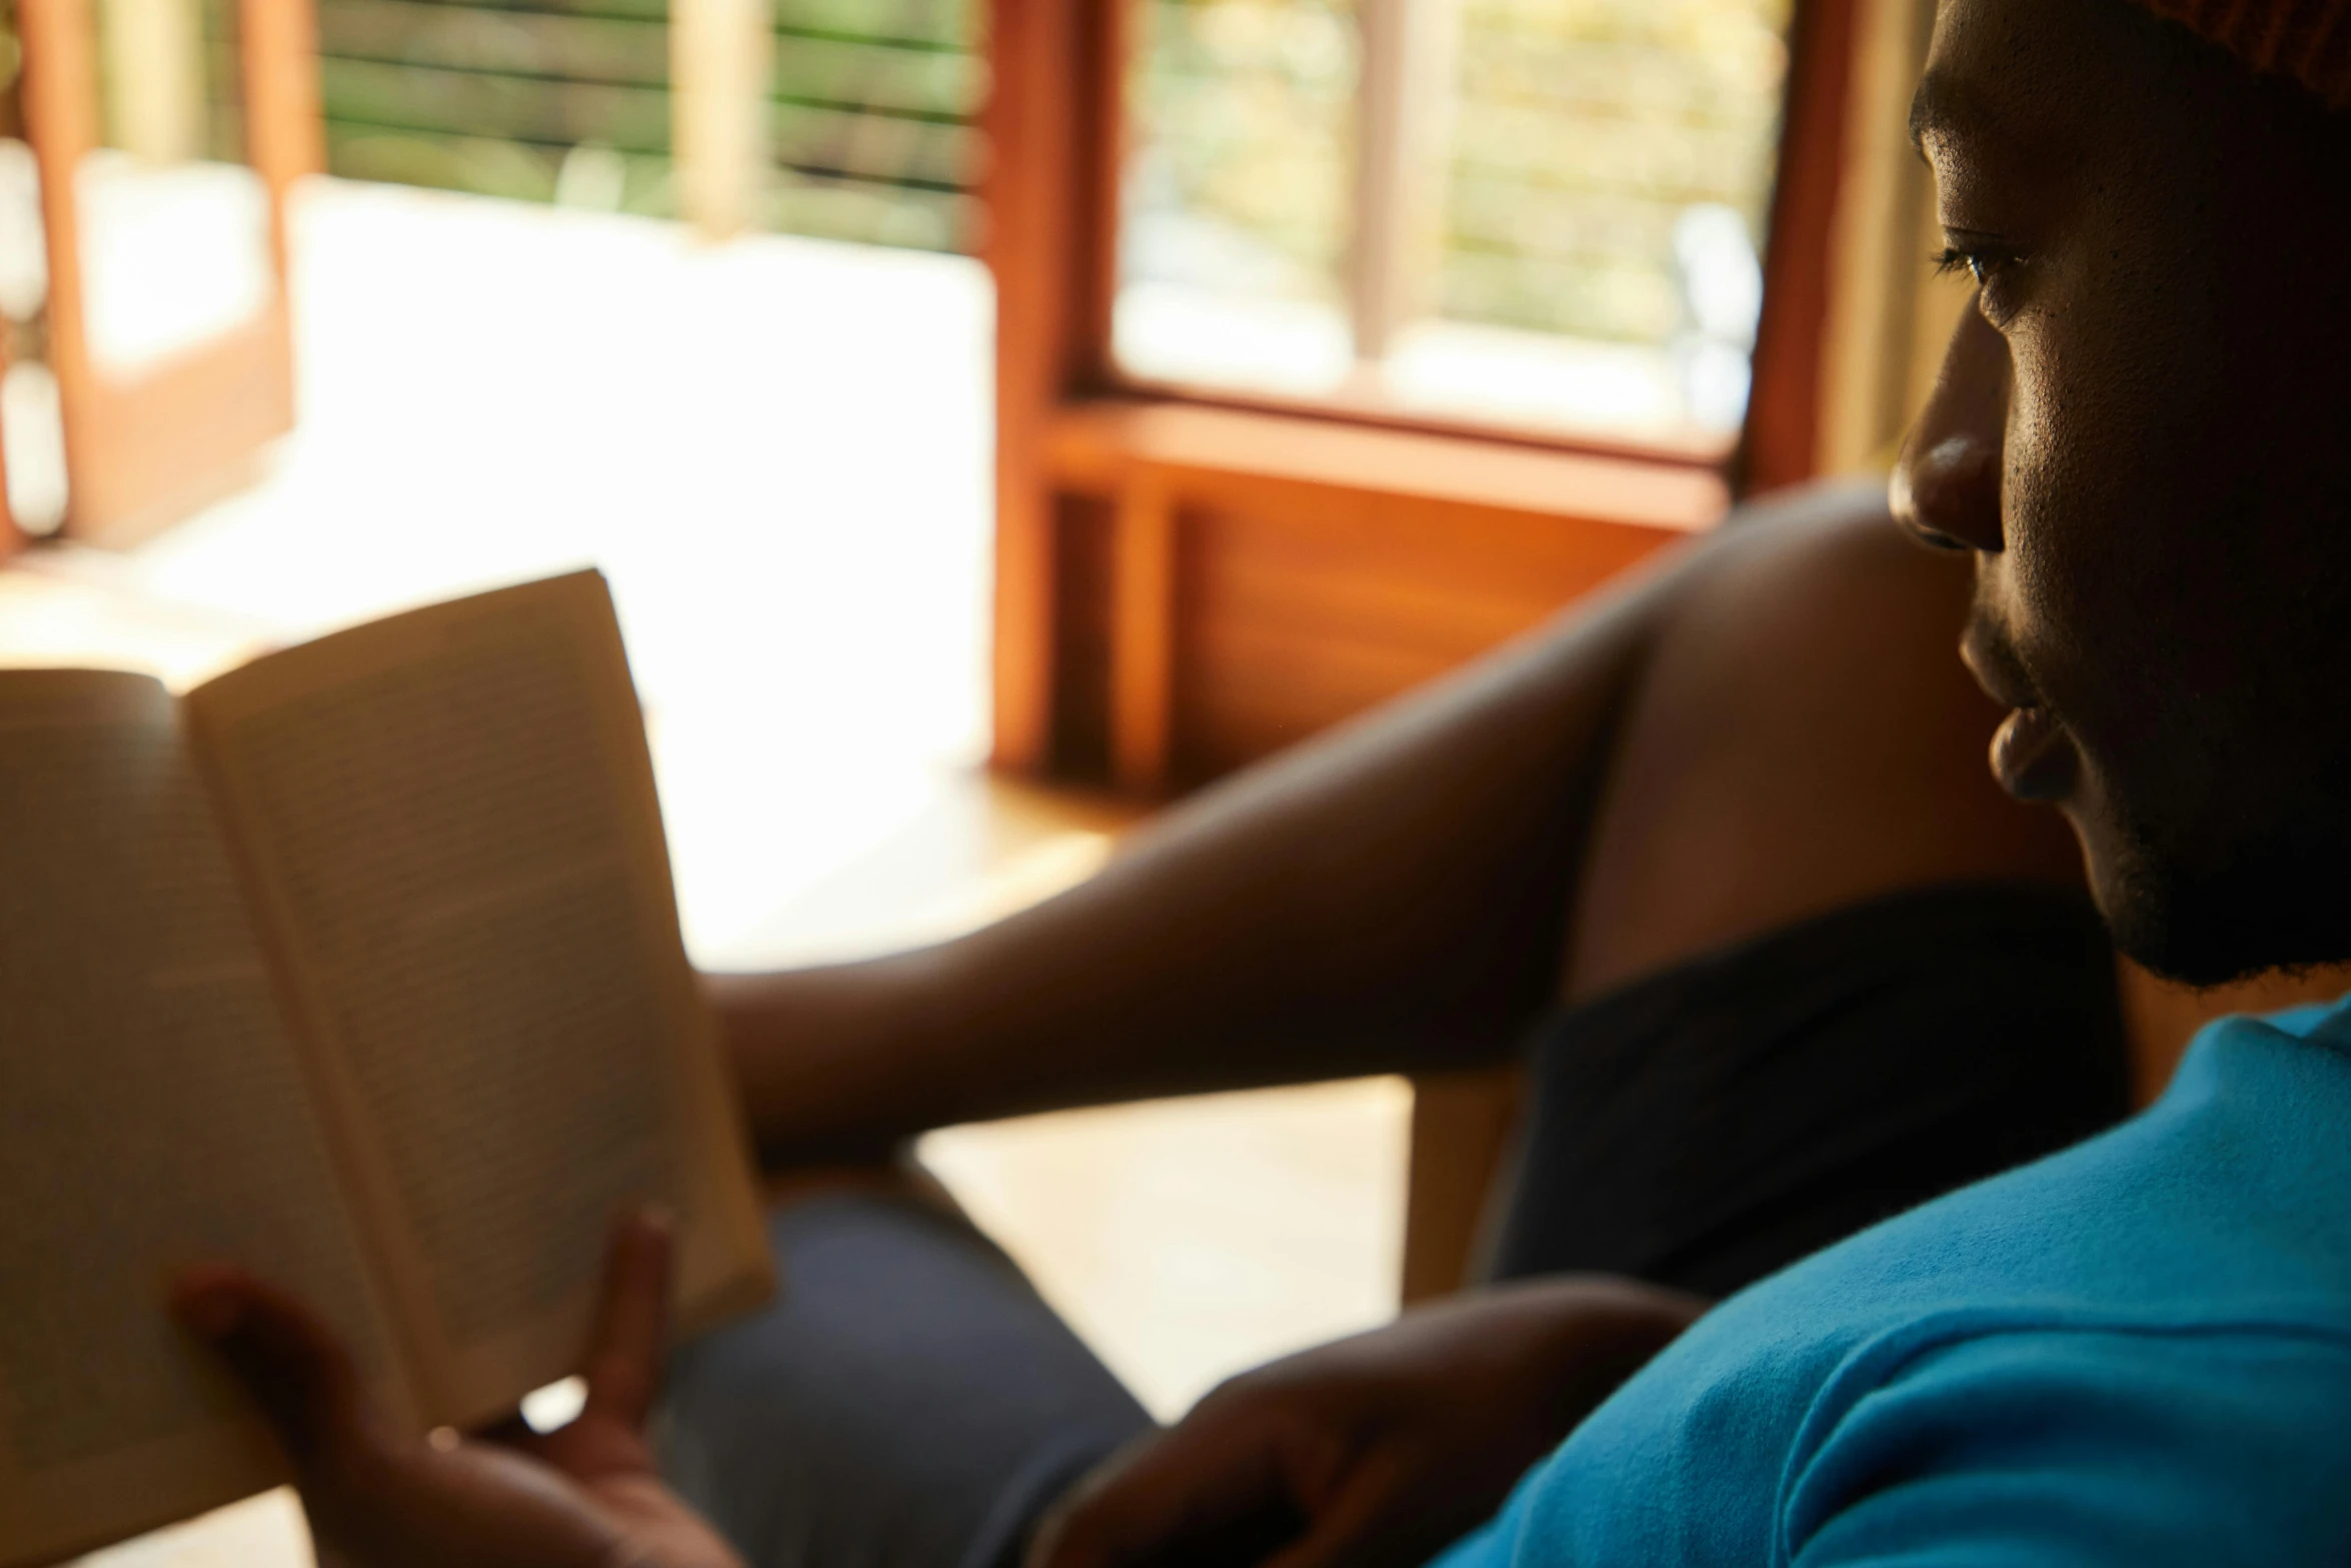
[[[538,1436],[393,1432],[350,1354],[301,1302],[240,1269],[186,1272],[172,1309],[219,1347],[277,1429],[324,1568],[743,1568],[654,1472],[670,1229],[618,1227],[590,1340],[588,1406]]]

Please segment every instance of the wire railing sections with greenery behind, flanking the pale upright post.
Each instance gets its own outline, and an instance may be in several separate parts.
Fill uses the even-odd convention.
[[[785,233],[976,235],[976,0],[778,0],[762,209]],[[317,0],[336,174],[675,216],[668,0]]]

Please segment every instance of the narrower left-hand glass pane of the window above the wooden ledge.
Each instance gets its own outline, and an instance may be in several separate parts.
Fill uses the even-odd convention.
[[[1140,376],[1333,390],[1357,31],[1345,0],[1136,0],[1117,353]]]

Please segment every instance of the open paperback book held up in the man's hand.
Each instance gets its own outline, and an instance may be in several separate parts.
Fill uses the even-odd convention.
[[[395,1420],[473,1425],[574,1371],[649,1199],[682,1326],[766,1295],[600,576],[181,701],[0,672],[0,1563],[282,1479],[174,1267],[299,1291]]]

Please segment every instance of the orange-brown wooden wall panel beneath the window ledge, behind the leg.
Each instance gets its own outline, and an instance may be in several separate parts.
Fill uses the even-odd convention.
[[[1305,487],[1187,505],[1176,780],[1244,766],[1434,679],[1679,538]]]

